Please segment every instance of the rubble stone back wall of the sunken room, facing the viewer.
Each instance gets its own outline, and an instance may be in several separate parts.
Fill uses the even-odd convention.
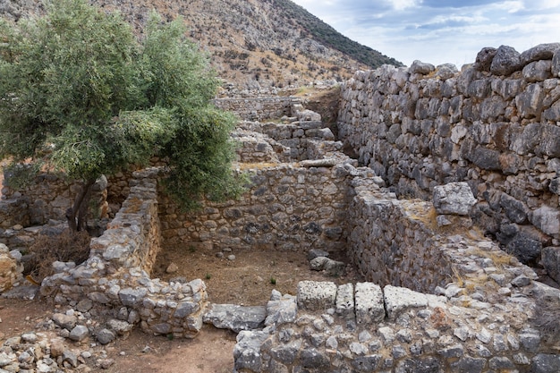
[[[249,191],[238,200],[205,203],[201,213],[182,213],[160,195],[165,242],[234,250],[344,248],[349,199],[348,172],[343,164],[247,166]]]

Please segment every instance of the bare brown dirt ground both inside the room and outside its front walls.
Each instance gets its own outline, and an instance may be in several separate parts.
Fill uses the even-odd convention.
[[[169,280],[182,276],[186,281],[201,278],[207,284],[210,301],[244,305],[266,305],[273,289],[295,294],[297,283],[301,280],[334,281],[337,284],[361,281],[350,267],[344,276],[337,277],[311,271],[305,253],[239,250],[224,254],[225,258],[220,259],[216,257],[215,250],[168,247],[158,255],[152,277]],[[227,259],[229,255],[235,255],[235,259]],[[344,261],[340,256],[332,255],[332,258]],[[178,270],[169,274],[165,269],[171,263]],[[55,306],[45,300],[0,298],[0,344],[11,336],[35,330],[40,321],[51,317],[54,312]],[[96,367],[92,360],[88,361],[89,369],[85,371],[231,372],[235,336],[231,331],[205,325],[195,339],[169,340],[164,336],[147,335],[137,328],[126,339],[119,338],[114,343],[92,349],[94,352],[105,350],[107,359],[115,361],[108,369]],[[72,348],[72,342],[67,340],[67,343]],[[75,347],[81,351],[86,349],[83,345]]]

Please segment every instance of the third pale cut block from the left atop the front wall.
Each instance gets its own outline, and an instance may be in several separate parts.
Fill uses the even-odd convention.
[[[383,292],[378,284],[356,284],[355,301],[356,323],[358,325],[378,324],[385,318]]]

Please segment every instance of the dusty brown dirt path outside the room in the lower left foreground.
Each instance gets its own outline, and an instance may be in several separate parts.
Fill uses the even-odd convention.
[[[7,338],[37,332],[35,326],[53,314],[53,306],[45,301],[21,301],[0,298],[0,345]],[[204,326],[195,339],[169,340],[163,336],[147,335],[139,329],[126,339],[117,339],[106,346],[94,341],[73,344],[72,349],[89,351],[97,357],[103,350],[106,359],[114,360],[108,369],[96,366],[96,359],[88,360],[84,372],[106,373],[229,373],[233,370],[235,334],[228,330]]]

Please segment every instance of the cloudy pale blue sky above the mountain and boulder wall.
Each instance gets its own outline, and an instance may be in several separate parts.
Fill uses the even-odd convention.
[[[410,66],[472,64],[483,47],[560,42],[560,0],[293,0],[344,36]]]

